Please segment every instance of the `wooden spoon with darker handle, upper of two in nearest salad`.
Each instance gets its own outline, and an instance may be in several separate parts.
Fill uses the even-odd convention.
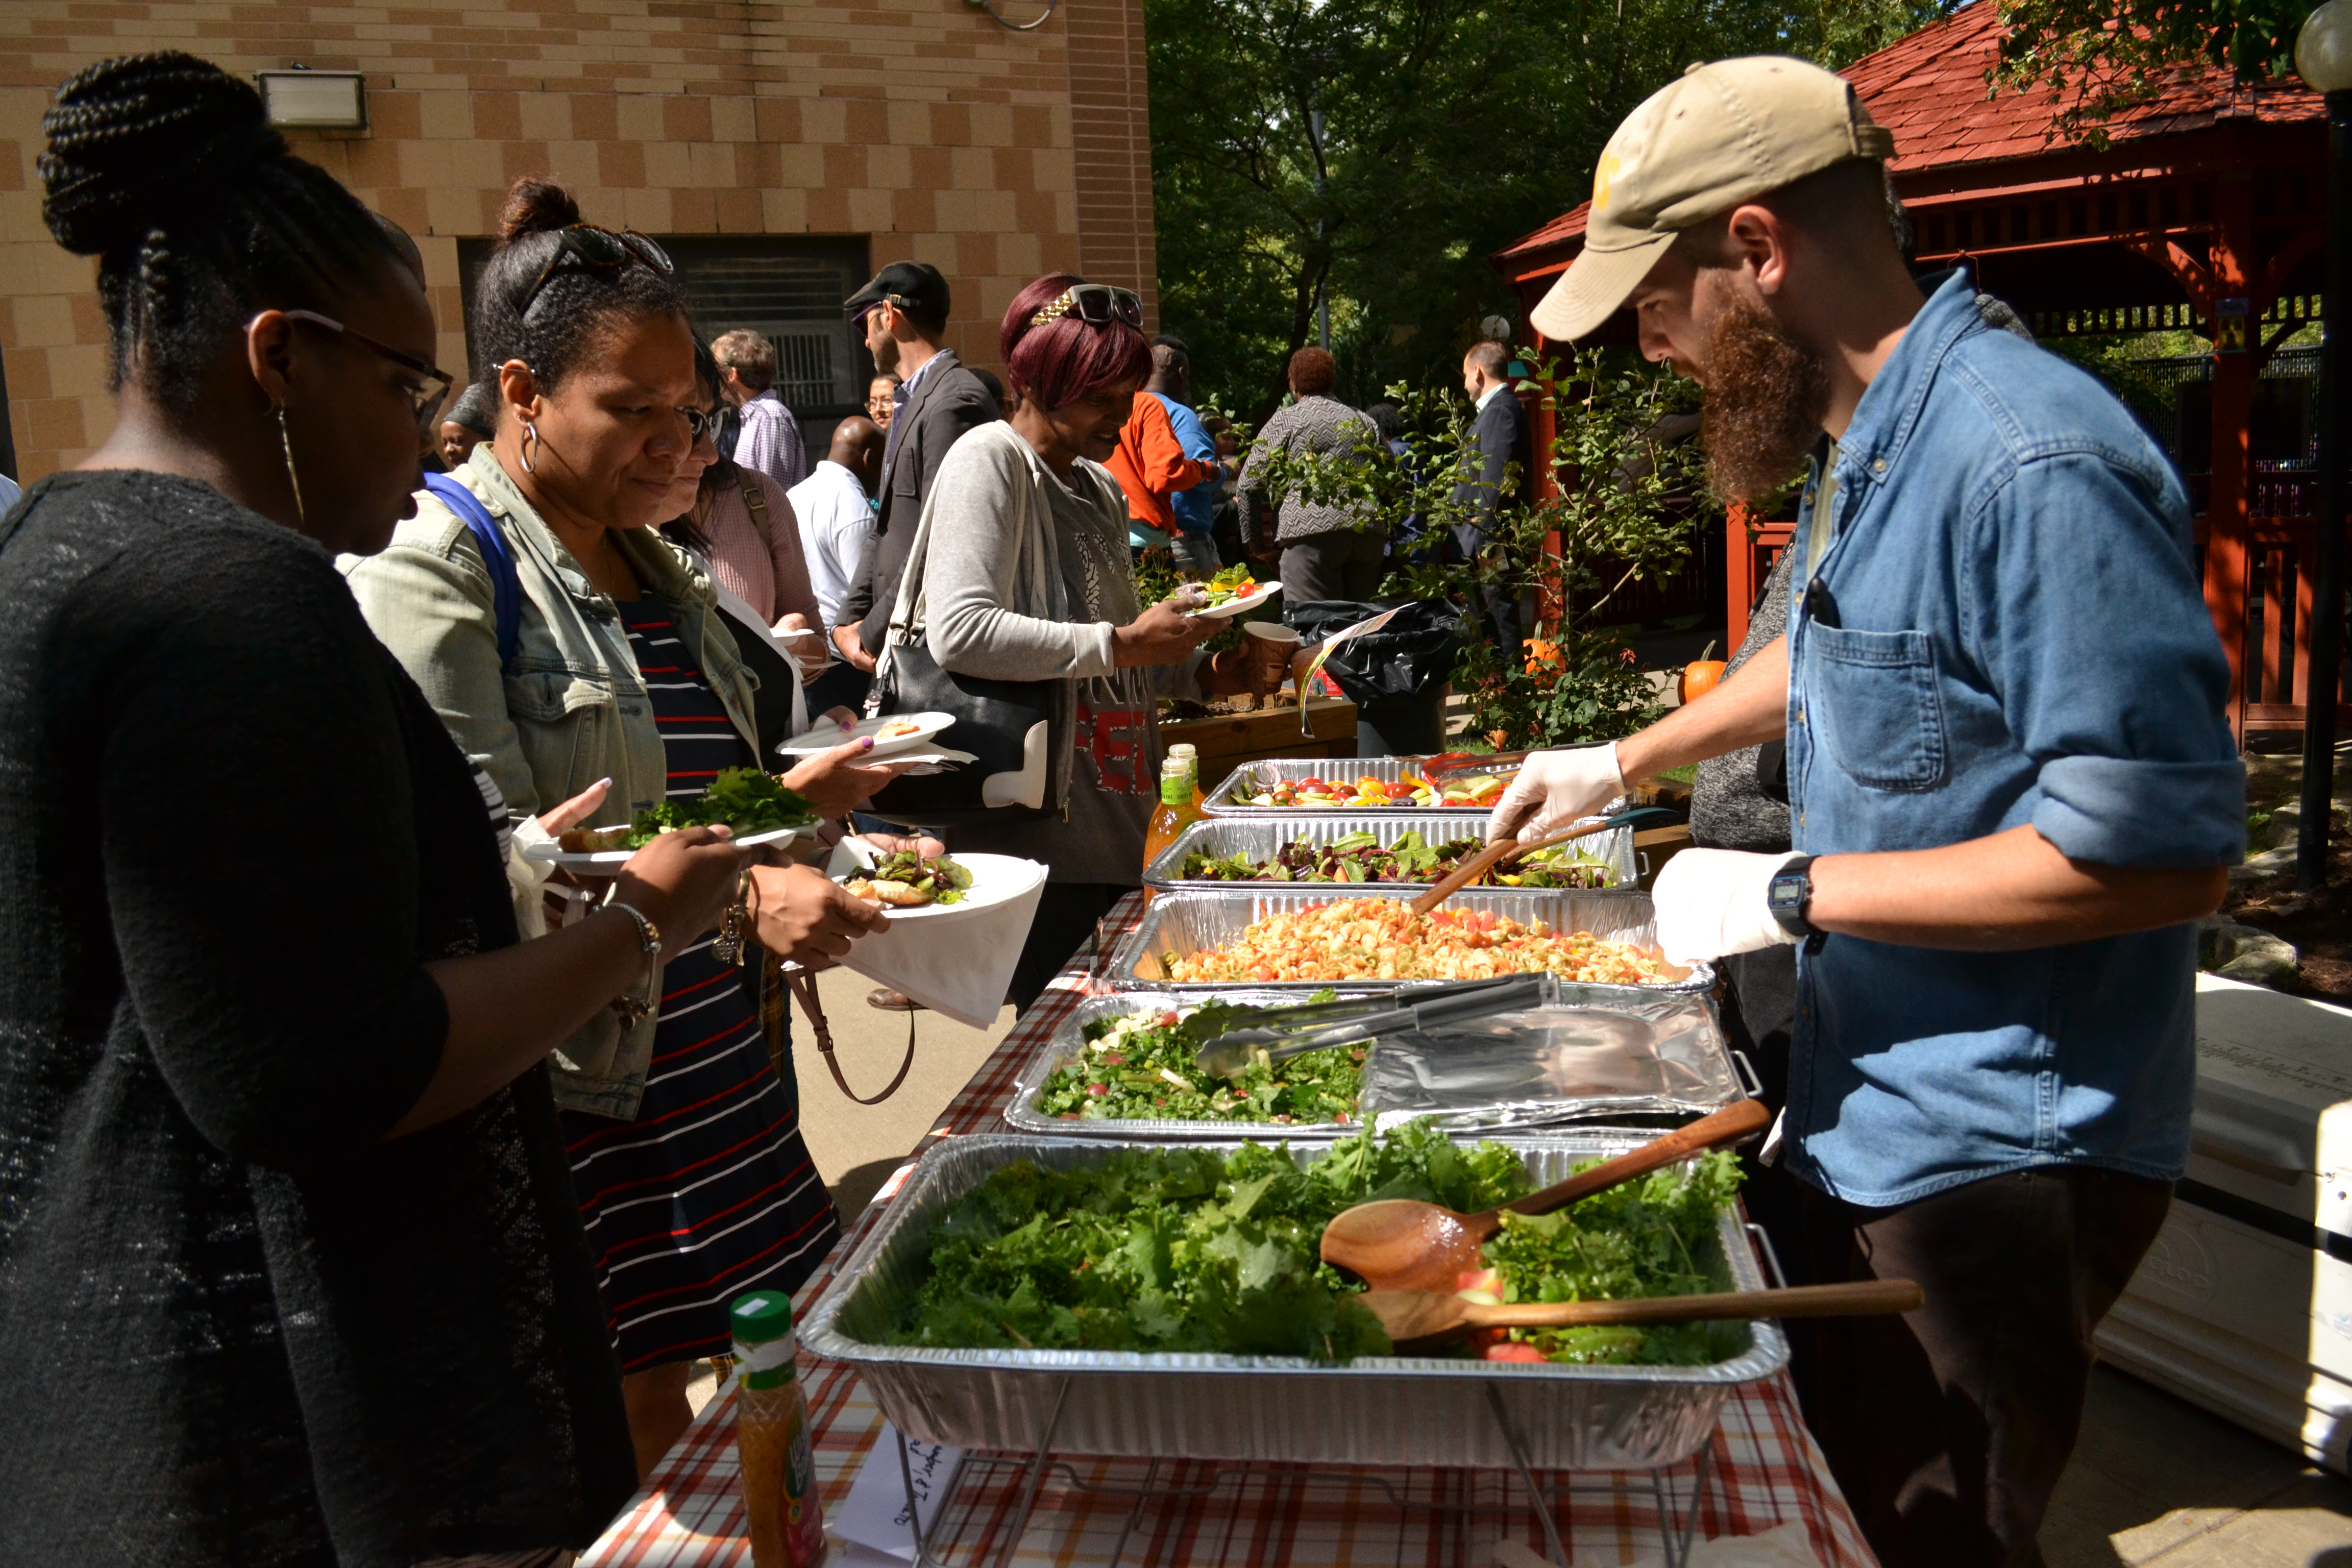
[[[1604,1187],[1649,1175],[1703,1150],[1738,1143],[1771,1126],[1771,1107],[1762,1100],[1726,1105],[1712,1117],[1653,1138],[1639,1150],[1604,1159],[1543,1192],[1486,1208],[1456,1213],[1418,1199],[1381,1199],[1331,1215],[1324,1225],[1322,1260],[1348,1269],[1374,1291],[1454,1291],[1454,1281],[1484,1267],[1479,1248],[1503,1229],[1503,1208],[1512,1213],[1552,1213]]]

